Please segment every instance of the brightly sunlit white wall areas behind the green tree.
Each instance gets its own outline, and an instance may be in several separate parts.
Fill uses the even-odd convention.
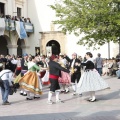
[[[51,29],[50,24],[53,20],[56,19],[55,11],[53,11],[49,7],[49,5],[54,4],[54,1],[55,0],[35,0],[36,8],[39,11],[38,17],[40,19],[43,31],[50,31]],[[55,30],[58,31],[57,26],[55,26]],[[79,37],[82,37],[82,35]],[[87,47],[77,45],[78,40],[79,38],[73,34],[67,35],[66,47],[68,48],[67,53],[69,56],[72,53],[76,52],[78,55],[84,57],[85,53],[90,51],[93,53],[94,57],[96,57],[98,53],[101,53],[103,58],[108,58],[108,44],[103,45],[99,50],[93,51],[92,47],[90,50],[87,50],[86,49]],[[116,45],[111,42],[110,43],[110,57],[111,58],[115,56],[115,48],[116,48]]]

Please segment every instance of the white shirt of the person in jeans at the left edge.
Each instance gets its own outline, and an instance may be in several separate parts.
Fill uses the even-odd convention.
[[[13,80],[13,73],[11,70],[2,70],[0,72],[0,76],[2,80],[8,80],[9,81],[9,85],[12,85],[12,80]]]

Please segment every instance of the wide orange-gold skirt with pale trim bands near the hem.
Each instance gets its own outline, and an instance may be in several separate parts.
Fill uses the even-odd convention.
[[[28,90],[34,94],[42,94],[41,81],[36,72],[27,72],[20,80],[21,88]]]

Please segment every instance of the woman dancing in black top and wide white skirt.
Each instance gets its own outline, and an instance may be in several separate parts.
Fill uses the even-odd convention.
[[[77,85],[77,93],[90,93],[90,102],[96,101],[95,91],[104,90],[109,88],[108,84],[103,80],[95,69],[92,53],[86,53],[87,61],[81,63],[83,66],[86,66],[85,72],[82,74],[81,79]]]

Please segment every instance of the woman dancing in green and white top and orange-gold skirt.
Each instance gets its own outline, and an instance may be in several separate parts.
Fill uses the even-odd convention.
[[[34,95],[42,94],[42,85],[39,79],[37,71],[40,71],[40,67],[35,63],[35,57],[32,56],[31,60],[26,63],[28,66],[28,72],[19,80],[21,88],[27,91],[27,100],[32,100],[30,93]],[[34,96],[34,98],[37,98]],[[38,97],[40,98],[40,97]]]

